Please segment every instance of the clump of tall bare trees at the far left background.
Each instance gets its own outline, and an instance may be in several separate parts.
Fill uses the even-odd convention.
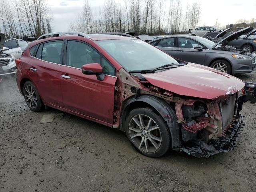
[[[46,0],[0,0],[0,32],[6,39],[32,36],[52,32]]]

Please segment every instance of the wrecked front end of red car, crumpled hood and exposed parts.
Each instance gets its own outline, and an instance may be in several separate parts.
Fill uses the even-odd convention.
[[[123,120],[118,116],[125,113],[127,106],[145,102],[168,124],[172,150],[198,158],[234,148],[245,125],[240,115],[242,104],[249,100],[255,103],[255,96],[245,93],[244,82],[204,66],[188,64],[132,77],[124,70],[119,72],[116,128],[120,125],[122,129]]]

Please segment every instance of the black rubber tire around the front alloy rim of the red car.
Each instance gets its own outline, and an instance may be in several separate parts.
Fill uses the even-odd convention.
[[[136,144],[135,138],[132,139],[131,138],[131,130],[129,128],[129,125],[131,124],[135,124],[135,122],[133,122],[133,118],[135,116],[138,115],[142,115],[144,116],[144,120],[145,118],[151,118],[153,120],[151,128],[154,129],[154,127],[158,127],[156,130],[153,130],[152,132],[150,131],[150,129],[145,131],[145,136],[144,138],[142,136],[136,136],[136,138],[138,139],[138,142]],[[126,131],[126,135],[128,137],[128,139],[130,140],[130,142],[134,145],[134,147],[142,154],[144,154],[145,156],[148,157],[160,157],[162,155],[164,155],[170,148],[170,144],[171,144],[171,135],[170,135],[170,130],[168,129],[168,126],[166,124],[166,122],[163,120],[162,116],[156,114],[151,108],[137,108],[134,109],[132,111],[130,111],[130,113],[128,114],[127,118],[126,118],[126,122],[124,124],[125,126],[125,131]],[[135,124],[135,126],[138,127],[137,124]],[[145,125],[146,126],[146,125]],[[138,130],[140,130],[140,128],[138,127]],[[146,134],[146,132],[149,131],[150,134]],[[154,132],[155,131],[155,132]],[[153,134],[154,132],[154,134]],[[137,132],[136,132],[137,133]],[[156,136],[156,133],[158,133],[158,136]],[[138,133],[140,134],[140,133]],[[153,144],[153,142],[151,142],[150,140],[152,140],[152,136],[156,136],[156,138],[161,138],[161,142],[157,143],[158,148],[156,148]],[[141,140],[141,141],[140,141]],[[142,141],[144,140],[144,141]],[[145,141],[146,140],[146,141]],[[155,144],[156,144],[156,140],[154,140]],[[138,143],[140,143],[143,145],[144,144],[144,148],[146,148],[146,143],[148,145],[148,147],[146,148],[146,150],[148,150],[148,152],[146,150],[143,150],[142,147],[138,146]],[[140,147],[140,148],[139,148]],[[142,149],[141,149],[142,148]],[[150,151],[150,149],[155,149],[156,151]]]

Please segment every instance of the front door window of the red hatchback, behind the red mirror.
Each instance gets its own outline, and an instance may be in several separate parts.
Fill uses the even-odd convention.
[[[115,76],[115,68],[94,48],[83,42],[68,41],[66,65],[81,69],[83,65],[90,63],[100,64],[104,74]]]

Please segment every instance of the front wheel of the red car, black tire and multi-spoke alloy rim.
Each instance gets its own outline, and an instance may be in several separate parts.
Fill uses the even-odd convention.
[[[162,156],[170,148],[166,122],[150,108],[138,108],[129,113],[126,134],[136,149],[149,157]]]

